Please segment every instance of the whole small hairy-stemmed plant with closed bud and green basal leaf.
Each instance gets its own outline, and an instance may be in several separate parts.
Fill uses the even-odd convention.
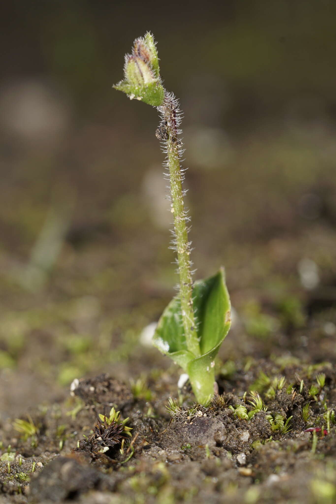
[[[159,57],[153,35],[137,38],[125,55],[124,79],[114,86],[132,99],[157,108],[161,121],[156,137],[166,154],[165,176],[169,181],[173,216],[171,248],[176,252],[178,295],[164,310],[153,339],[154,345],[189,375],[196,400],[207,405],[214,394],[215,357],[229,332],[230,298],[224,269],[205,280],[192,282],[188,240],[190,217],[184,206],[184,169],[178,100],[162,84]]]

